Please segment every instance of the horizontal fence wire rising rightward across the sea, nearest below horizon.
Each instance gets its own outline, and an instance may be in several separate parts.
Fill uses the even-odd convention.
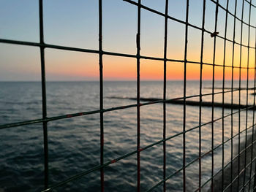
[[[252,89],[252,88],[250,88]],[[214,93],[214,95],[218,95],[218,94],[222,94],[222,93],[230,93],[230,92],[234,92],[234,91],[239,91],[239,88],[237,89],[233,89],[229,90],[229,91],[219,91],[217,93]],[[201,96],[211,96],[213,93],[205,93],[202,94]],[[196,98],[196,97],[200,97],[200,95],[193,95],[193,96],[186,96],[186,97],[177,97],[177,98],[172,98],[172,99],[159,99],[157,101],[149,101],[149,102],[145,102],[145,103],[140,103],[140,106],[145,106],[145,105],[150,105],[150,104],[157,104],[157,103],[164,103],[164,102],[168,102],[168,101],[175,101],[175,100],[181,100],[181,99],[191,99],[191,98]],[[43,122],[48,122],[48,121],[53,121],[53,120],[61,120],[61,119],[67,119],[67,118],[74,118],[74,117],[79,117],[79,116],[84,116],[84,115],[93,115],[93,114],[97,114],[101,111],[103,112],[110,112],[110,111],[115,111],[115,110],[124,110],[127,108],[131,108],[131,107],[137,107],[138,104],[129,104],[129,105],[124,105],[124,106],[119,106],[119,107],[111,107],[108,109],[103,109],[103,110],[93,110],[93,111],[87,111],[87,112],[76,112],[76,113],[71,113],[71,114],[67,114],[67,115],[59,115],[59,116],[55,116],[55,117],[51,117],[51,118],[40,118],[40,119],[35,119],[35,120],[25,120],[22,122],[17,122],[17,123],[7,123],[4,125],[0,125],[0,129],[3,128],[12,128],[12,127],[17,127],[17,126],[26,126],[26,125],[30,125],[30,124],[34,124],[34,123],[43,123]]]

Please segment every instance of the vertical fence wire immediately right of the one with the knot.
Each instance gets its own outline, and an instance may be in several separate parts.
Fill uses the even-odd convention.
[[[227,0],[227,6],[226,9],[228,9],[228,4],[229,1]],[[227,45],[227,15],[228,12],[226,11],[226,16],[225,16],[225,39],[224,39],[224,57],[223,57],[223,77],[222,77],[222,191],[224,189],[224,135],[225,135],[225,131],[224,131],[224,102],[225,102],[225,60],[226,60],[226,45]]]

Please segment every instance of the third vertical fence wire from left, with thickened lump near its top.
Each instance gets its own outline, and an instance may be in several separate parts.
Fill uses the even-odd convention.
[[[138,0],[137,45],[137,191],[140,192],[140,4]]]

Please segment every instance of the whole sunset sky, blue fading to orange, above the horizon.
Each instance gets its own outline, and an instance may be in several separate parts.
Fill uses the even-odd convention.
[[[226,7],[227,0],[219,0]],[[241,19],[242,0],[238,1],[236,15]],[[235,1],[230,1],[229,11],[234,14]],[[252,3],[256,4],[256,0]],[[165,12],[165,0],[142,0],[142,4]],[[178,20],[186,20],[186,0],[170,0],[168,14]],[[208,31],[214,32],[215,7],[206,0]],[[98,49],[98,1],[96,0],[44,0],[45,43]],[[102,0],[102,46],[115,53],[136,54],[137,7],[121,0]],[[189,23],[201,27],[203,0],[189,1]],[[249,23],[249,4],[244,3],[244,21]],[[233,39],[233,16],[227,18],[227,39]],[[251,22],[256,26],[256,8],[252,7]],[[163,58],[165,18],[141,9],[141,50],[144,56]],[[219,35],[225,34],[225,11],[219,8],[217,23]],[[243,26],[242,42],[255,47],[255,28]],[[184,60],[185,25],[168,20],[167,58]],[[39,5],[35,0],[0,0],[0,39],[39,42]],[[236,42],[241,41],[241,22],[236,20]],[[188,28],[188,61],[200,61],[201,31]],[[203,62],[212,64],[214,38],[205,34]],[[224,40],[217,38],[215,64],[223,65]],[[225,64],[232,65],[232,42],[227,42]],[[234,66],[239,66],[240,46],[235,45]],[[242,66],[247,66],[247,48],[242,48]],[[249,66],[255,64],[255,50],[249,49]],[[140,60],[141,80],[163,80],[163,61]],[[203,66],[203,79],[212,79],[212,66]],[[222,80],[222,67],[215,67],[215,79]],[[99,55],[67,50],[45,49],[45,70],[48,81],[99,80]],[[104,80],[136,80],[136,59],[103,55]],[[225,77],[231,78],[231,68],[225,69]],[[239,70],[234,69],[238,79]],[[0,81],[34,81],[41,79],[38,47],[0,43]],[[254,70],[249,70],[252,79]],[[246,79],[246,69],[241,70]],[[183,80],[184,64],[167,62],[167,80]],[[199,80],[200,65],[187,64],[187,79]]]

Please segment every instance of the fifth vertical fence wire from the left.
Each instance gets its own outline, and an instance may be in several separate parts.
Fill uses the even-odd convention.
[[[184,49],[184,105],[183,105],[183,191],[186,191],[186,91],[187,91],[187,42],[189,24],[189,0],[187,0],[186,9],[186,31],[185,31],[185,49]]]

